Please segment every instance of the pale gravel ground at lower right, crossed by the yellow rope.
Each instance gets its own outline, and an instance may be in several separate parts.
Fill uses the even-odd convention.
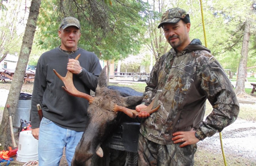
[[[241,156],[256,162],[256,123],[237,119],[226,127],[222,133],[222,143],[225,154]],[[207,137],[197,143],[198,149],[213,153],[221,153],[219,133]]]

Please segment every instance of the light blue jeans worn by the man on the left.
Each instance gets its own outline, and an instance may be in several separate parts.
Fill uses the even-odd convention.
[[[66,147],[66,159],[70,166],[76,145],[83,133],[62,128],[43,117],[39,128],[39,166],[58,166],[64,147]]]

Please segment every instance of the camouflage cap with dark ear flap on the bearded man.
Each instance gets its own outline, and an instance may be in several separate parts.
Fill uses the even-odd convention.
[[[190,23],[189,14],[180,8],[172,8],[164,12],[162,16],[162,21],[158,28],[162,27],[164,23],[175,24],[182,19],[185,23]]]

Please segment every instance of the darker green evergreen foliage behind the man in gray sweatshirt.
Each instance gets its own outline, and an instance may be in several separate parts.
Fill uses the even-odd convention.
[[[145,23],[142,1],[49,1],[42,2],[38,18],[37,45],[52,49],[60,45],[57,34],[64,17],[73,16],[81,24],[78,46],[95,52],[101,59],[118,60],[140,50]],[[55,12],[57,9],[57,12]]]

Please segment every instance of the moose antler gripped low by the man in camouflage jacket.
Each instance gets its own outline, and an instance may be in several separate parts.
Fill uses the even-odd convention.
[[[151,101],[151,103],[148,105],[148,107],[146,107],[144,109],[141,109],[140,112],[146,111],[149,114],[152,114],[152,113],[156,112],[160,108],[160,105],[158,105],[156,108],[152,109],[154,101],[155,101],[155,99],[153,99]],[[128,108],[125,108],[123,106],[119,106],[119,105],[116,105],[116,104],[114,106],[114,111],[124,112],[126,115],[128,115],[131,118],[135,118],[139,115],[139,112],[134,110],[134,109],[128,109]]]

